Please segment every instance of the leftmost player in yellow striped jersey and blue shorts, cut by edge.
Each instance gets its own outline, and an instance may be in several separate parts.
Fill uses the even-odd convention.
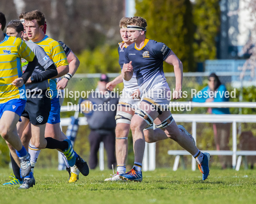
[[[6,25],[4,13],[0,12],[0,135],[12,145],[19,157],[22,177],[31,173],[30,155],[22,145],[16,124],[26,104],[25,83],[36,67],[37,59],[31,49],[20,38],[3,33]],[[28,61],[22,75],[21,58]],[[18,78],[17,78],[18,77]]]

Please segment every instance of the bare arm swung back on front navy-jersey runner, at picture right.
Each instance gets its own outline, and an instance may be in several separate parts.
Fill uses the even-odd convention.
[[[183,80],[183,65],[179,58],[171,50],[165,62],[173,65],[176,79],[175,91],[172,93],[173,99],[180,99],[182,97],[182,80]]]

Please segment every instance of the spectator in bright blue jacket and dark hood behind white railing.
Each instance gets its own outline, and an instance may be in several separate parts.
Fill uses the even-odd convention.
[[[204,87],[202,90],[203,95],[199,98],[196,95],[192,101],[193,102],[227,102],[229,97],[225,97],[226,87],[221,84],[219,77],[212,73],[208,77],[208,86]],[[214,95],[211,98],[210,91],[213,91]],[[229,108],[209,108],[208,113],[210,114],[230,114]],[[230,136],[230,123],[213,123],[213,133],[214,141],[217,150],[229,150],[229,136]],[[222,169],[226,169],[227,166],[231,165],[230,156],[219,155],[220,163]]]

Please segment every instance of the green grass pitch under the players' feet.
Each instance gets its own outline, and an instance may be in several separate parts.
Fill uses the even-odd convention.
[[[12,172],[1,169],[0,182]],[[67,182],[68,173],[53,169],[36,169],[36,186],[18,190],[19,186],[0,186],[0,203],[256,203],[256,170],[212,169],[207,181],[200,171],[157,169],[143,172],[143,181],[104,182],[111,171],[91,171],[76,183]]]

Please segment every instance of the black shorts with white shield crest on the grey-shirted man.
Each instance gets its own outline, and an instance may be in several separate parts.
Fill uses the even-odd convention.
[[[46,96],[46,90],[37,91],[35,94],[31,92],[30,97],[27,97],[25,109],[21,116],[28,118],[33,125],[43,125],[47,123],[50,111],[51,98]]]

